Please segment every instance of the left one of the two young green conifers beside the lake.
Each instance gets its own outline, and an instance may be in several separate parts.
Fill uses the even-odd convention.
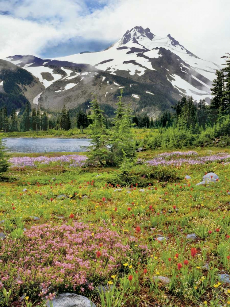
[[[91,137],[89,152],[89,160],[99,162],[101,165],[111,164],[111,151],[109,149],[109,131],[105,126],[105,117],[100,109],[96,96],[91,102],[92,115],[89,118],[92,124],[89,126],[89,134]]]

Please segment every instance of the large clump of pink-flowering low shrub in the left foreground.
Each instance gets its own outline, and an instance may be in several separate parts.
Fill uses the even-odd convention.
[[[130,251],[117,232],[77,222],[34,226],[23,239],[0,244],[1,286],[31,298],[93,290],[93,283],[108,279]]]

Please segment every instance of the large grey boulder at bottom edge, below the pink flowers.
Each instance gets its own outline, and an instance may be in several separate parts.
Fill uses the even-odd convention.
[[[96,307],[87,297],[74,293],[61,293],[52,302],[47,301],[47,307]]]

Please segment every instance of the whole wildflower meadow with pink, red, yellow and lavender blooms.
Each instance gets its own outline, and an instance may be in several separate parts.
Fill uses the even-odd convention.
[[[230,306],[230,149],[10,157],[0,182],[0,306]],[[197,185],[205,173],[218,178]],[[4,181],[5,180],[5,181]]]

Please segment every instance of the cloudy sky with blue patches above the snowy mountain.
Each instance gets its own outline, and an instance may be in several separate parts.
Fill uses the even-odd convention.
[[[229,0],[0,0],[0,58],[101,51],[138,25],[221,64],[229,12]]]

